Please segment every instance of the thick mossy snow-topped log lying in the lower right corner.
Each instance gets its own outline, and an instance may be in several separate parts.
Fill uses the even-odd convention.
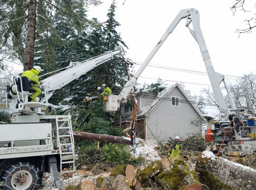
[[[204,151],[197,160],[196,171],[210,189],[256,189],[256,170],[215,157],[209,151]]]

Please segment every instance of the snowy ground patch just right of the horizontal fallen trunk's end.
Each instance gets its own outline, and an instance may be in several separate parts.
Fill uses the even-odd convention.
[[[139,143],[136,143],[136,146],[134,148],[131,148],[131,155],[135,158],[141,156],[144,157],[145,160],[159,160],[161,159],[158,155],[158,152],[154,147],[158,146],[156,140],[142,140],[139,138],[136,138]]]

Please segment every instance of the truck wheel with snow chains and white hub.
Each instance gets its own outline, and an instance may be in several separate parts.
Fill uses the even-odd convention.
[[[10,166],[3,175],[4,188],[16,190],[35,189],[40,182],[39,170],[30,163]]]

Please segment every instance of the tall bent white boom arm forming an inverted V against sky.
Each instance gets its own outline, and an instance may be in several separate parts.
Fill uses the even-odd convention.
[[[164,35],[161,37],[161,39],[157,42],[156,46],[154,49],[150,52],[150,54],[147,56],[146,60],[143,62],[139,70],[135,73],[134,77],[132,77],[131,80],[129,80],[126,84],[124,89],[119,94],[119,100],[121,102],[126,102],[128,95],[130,92],[133,90],[135,83],[137,82],[140,74],[144,71],[150,60],[154,57],[156,52],[159,50],[160,46],[165,42],[167,37],[169,36],[170,33],[172,33],[175,29],[175,27],[178,25],[178,23],[183,19],[186,18],[186,26],[188,27],[190,33],[196,40],[196,42],[199,45],[205,67],[208,73],[208,77],[211,81],[213,92],[217,101],[217,105],[223,109],[224,111],[227,112],[227,105],[224,100],[223,94],[220,89],[220,83],[223,81],[226,91],[227,91],[227,98],[229,99],[229,103],[231,106],[231,109],[236,109],[234,100],[229,93],[229,90],[226,87],[225,81],[224,81],[224,75],[217,73],[214,71],[210,55],[208,53],[204,37],[200,28],[200,18],[199,18],[199,12],[195,8],[189,8],[189,9],[182,9],[174,21],[169,25],[168,29],[164,33]],[[193,30],[189,28],[189,24],[192,22],[193,24]],[[107,110],[106,110],[107,111]]]

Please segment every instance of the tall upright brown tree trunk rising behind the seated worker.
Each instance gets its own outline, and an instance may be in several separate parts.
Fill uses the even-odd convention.
[[[34,46],[35,46],[35,7],[36,0],[30,0],[27,12],[27,34],[26,48],[24,55],[24,71],[30,70],[34,65]]]

